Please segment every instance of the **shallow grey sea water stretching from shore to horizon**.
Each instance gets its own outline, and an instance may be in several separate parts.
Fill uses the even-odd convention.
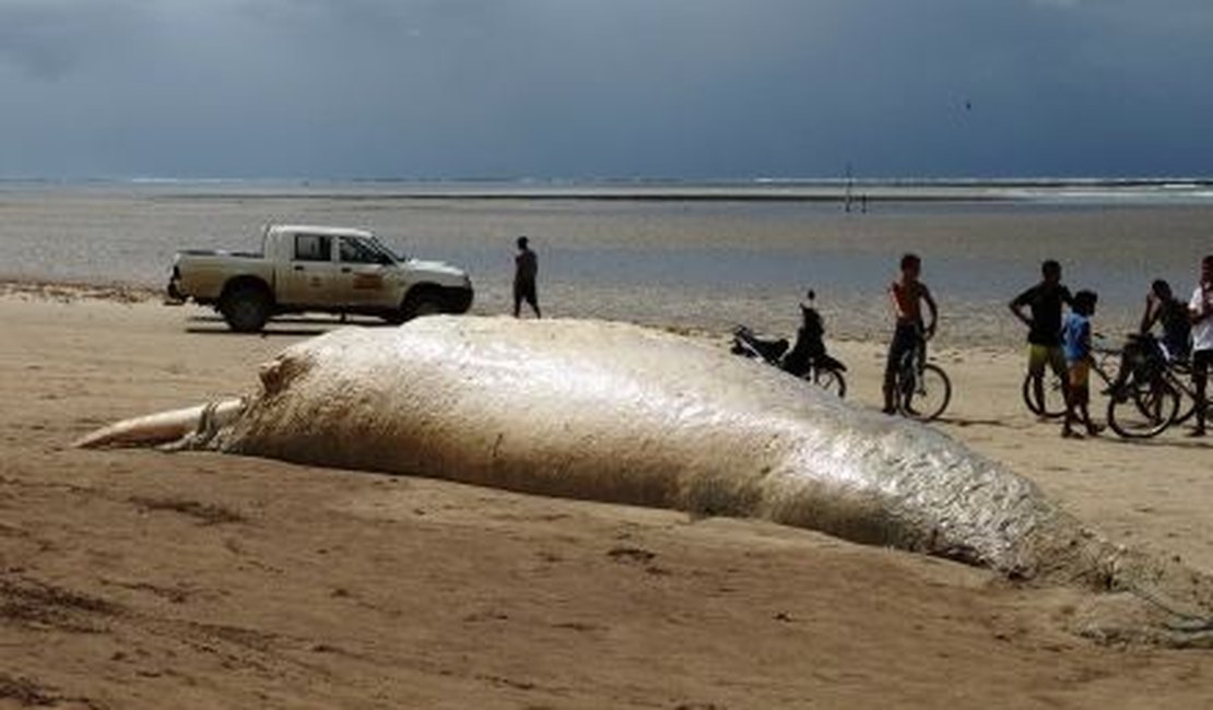
[[[1006,344],[1021,336],[1006,303],[1046,258],[1099,292],[1109,333],[1132,327],[1152,279],[1190,292],[1213,253],[1213,184],[8,182],[0,277],[159,287],[176,250],[255,248],[270,222],[365,227],[463,267],[479,313],[508,309],[526,234],[554,315],[785,334],[807,287],[833,336],[883,333],[884,290],[913,251],[941,338]]]

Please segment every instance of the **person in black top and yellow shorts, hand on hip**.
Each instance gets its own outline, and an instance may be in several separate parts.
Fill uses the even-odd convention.
[[[1027,326],[1027,372],[1032,377],[1032,394],[1037,402],[1044,401],[1046,363],[1066,383],[1065,353],[1061,350],[1061,305],[1070,305],[1074,298],[1061,285],[1061,264],[1049,259],[1041,264],[1040,284],[1024,291],[1010,302],[1010,313]],[[1031,317],[1024,308],[1031,310]]]

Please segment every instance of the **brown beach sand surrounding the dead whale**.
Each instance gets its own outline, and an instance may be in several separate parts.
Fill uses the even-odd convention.
[[[1202,708],[1213,653],[1065,630],[1075,591],[805,531],[218,454],[75,451],[239,394],[335,325],[228,334],[129,292],[0,288],[0,706]],[[850,399],[881,347],[835,343]],[[1063,441],[1021,357],[936,353],[940,426],[1109,537],[1213,572],[1211,445]],[[1097,407],[1098,408],[1098,407]]]

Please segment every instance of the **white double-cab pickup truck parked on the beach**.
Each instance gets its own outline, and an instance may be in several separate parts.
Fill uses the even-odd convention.
[[[402,259],[369,231],[273,224],[260,253],[177,252],[169,298],[212,305],[228,327],[257,332],[272,316],[324,311],[404,322],[466,313],[472,280],[442,262]]]

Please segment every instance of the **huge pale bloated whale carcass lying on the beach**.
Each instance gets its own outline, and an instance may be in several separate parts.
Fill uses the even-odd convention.
[[[244,399],[80,446],[209,448],[748,516],[1008,577],[1128,589],[1192,619],[1201,574],[1103,542],[1002,464],[723,348],[639,326],[434,316],[287,348]]]

